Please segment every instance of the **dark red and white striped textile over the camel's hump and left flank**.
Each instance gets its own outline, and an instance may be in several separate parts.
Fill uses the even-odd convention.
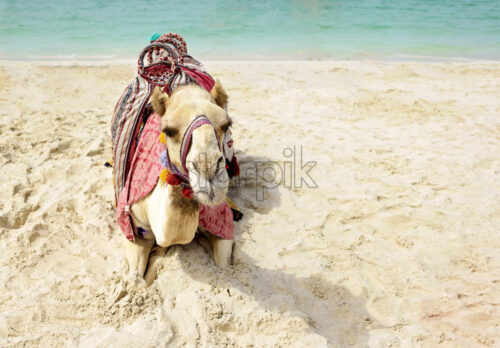
[[[164,34],[142,50],[137,76],[116,103],[111,121],[115,202],[127,179],[136,138],[149,116],[147,106],[154,87],[171,94],[178,86],[192,83],[207,91],[215,85],[203,65],[187,54],[180,35]]]

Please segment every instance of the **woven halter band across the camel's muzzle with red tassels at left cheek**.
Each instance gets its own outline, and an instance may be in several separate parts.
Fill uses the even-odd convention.
[[[206,117],[205,115],[198,115],[191,122],[191,124],[188,126],[188,128],[184,132],[184,135],[182,136],[181,149],[180,149],[180,158],[181,158],[182,168],[178,168],[175,164],[172,163],[172,161],[170,160],[168,147],[160,156],[160,161],[161,161],[162,165],[169,172],[169,174],[166,178],[166,182],[171,184],[171,185],[182,185],[184,189],[191,190],[191,195],[192,195],[192,189],[191,189],[191,185],[189,183],[189,171],[186,167],[186,158],[187,158],[187,155],[189,152],[189,147],[191,145],[191,141],[193,139],[194,130],[205,125],[205,124],[212,126],[212,128],[214,129],[215,138],[217,139],[217,145],[219,146],[219,150],[220,150],[221,145],[220,145],[219,137],[217,135],[217,131],[215,130],[214,125],[208,119],[208,117]],[[183,194],[184,194],[184,191],[183,191]],[[186,194],[184,194],[184,195],[186,196]],[[188,198],[190,198],[190,197],[188,197]]]

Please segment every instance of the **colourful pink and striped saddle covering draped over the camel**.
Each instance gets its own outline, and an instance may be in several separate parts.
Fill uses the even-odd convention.
[[[136,78],[118,100],[111,121],[113,183],[117,220],[122,232],[134,240],[129,207],[155,187],[161,171],[159,157],[164,146],[160,117],[151,112],[149,99],[156,86],[171,94],[175,88],[198,84],[211,91],[214,79],[203,65],[187,54],[186,43],[178,34],[164,34],[143,49]],[[226,158],[233,152],[230,133],[224,137]],[[161,150],[161,151],[160,151]],[[227,158],[229,161],[232,158]],[[225,239],[233,238],[233,215],[226,203],[200,207],[200,224]]]

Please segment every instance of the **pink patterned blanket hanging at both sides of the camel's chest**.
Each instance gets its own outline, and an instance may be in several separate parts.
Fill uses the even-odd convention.
[[[135,238],[130,207],[154,189],[163,169],[159,158],[165,144],[158,140],[160,134],[161,117],[152,113],[144,125],[125,186],[118,197],[116,218],[128,240]],[[233,212],[226,203],[200,205],[199,224],[220,238],[233,239]]]

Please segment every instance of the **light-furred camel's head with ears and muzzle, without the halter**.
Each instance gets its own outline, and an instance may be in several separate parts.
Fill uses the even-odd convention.
[[[222,139],[231,119],[225,110],[227,94],[220,82],[216,82],[210,93],[197,85],[187,85],[177,88],[170,97],[156,87],[151,103],[162,117],[170,160],[181,170],[184,168],[181,146],[185,133],[189,133],[200,115],[208,118],[211,124],[202,124],[192,131],[191,143],[183,149],[188,151],[184,165],[193,198],[204,205],[222,203],[229,185],[221,151]]]

